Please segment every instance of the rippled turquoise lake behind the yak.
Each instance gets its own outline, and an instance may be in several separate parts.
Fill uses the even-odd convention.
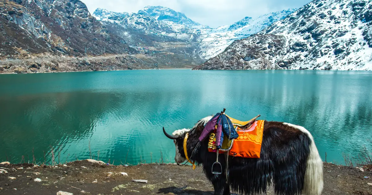
[[[0,161],[174,162],[162,127],[220,112],[304,126],[323,160],[372,151],[372,72],[187,69],[0,75]],[[89,151],[90,145],[90,151]],[[145,161],[144,161],[145,160]],[[56,159],[58,162],[58,157]]]

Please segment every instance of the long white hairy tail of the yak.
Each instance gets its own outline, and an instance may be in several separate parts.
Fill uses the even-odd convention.
[[[323,191],[323,161],[319,156],[317,146],[315,146],[314,138],[304,127],[289,123],[283,124],[295,127],[310,137],[310,155],[307,160],[303,194],[320,195]]]

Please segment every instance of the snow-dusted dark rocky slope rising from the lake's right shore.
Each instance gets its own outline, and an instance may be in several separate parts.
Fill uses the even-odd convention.
[[[371,0],[314,0],[194,69],[372,70],[371,10]]]

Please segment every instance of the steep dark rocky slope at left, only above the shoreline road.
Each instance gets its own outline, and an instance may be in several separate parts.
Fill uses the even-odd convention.
[[[0,58],[135,52],[80,0],[1,0]]]

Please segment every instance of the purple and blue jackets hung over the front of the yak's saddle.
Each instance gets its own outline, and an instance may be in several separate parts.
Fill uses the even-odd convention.
[[[217,130],[216,130],[217,125]],[[232,125],[230,118],[226,115],[217,113],[208,123],[205,124],[199,141],[204,141],[209,134],[213,133],[216,130],[216,148],[220,149],[222,147],[222,142],[224,140],[224,135],[230,137],[230,140],[238,137],[238,133],[235,131],[234,126]]]

